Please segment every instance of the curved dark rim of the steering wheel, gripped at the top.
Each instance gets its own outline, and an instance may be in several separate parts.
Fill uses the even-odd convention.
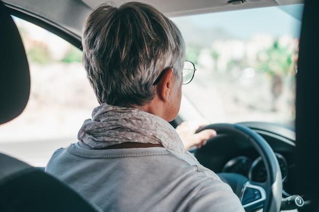
[[[218,135],[235,135],[236,137],[240,137],[250,142],[264,162],[267,170],[267,180],[264,183],[257,183],[247,179],[240,196],[241,201],[245,191],[250,190],[250,188],[257,189],[261,192],[261,198],[259,199],[261,201],[258,201],[257,199],[248,204],[242,204],[246,211],[254,211],[257,208],[260,208],[260,205],[263,205],[263,212],[279,212],[282,198],[282,176],[276,155],[268,142],[258,133],[240,124],[211,124],[201,127],[197,132],[206,129],[213,129]],[[210,140],[213,139],[215,138]],[[202,148],[204,148],[204,146]],[[264,190],[264,194],[262,194],[262,190]],[[262,195],[264,195],[265,198],[262,198]]]

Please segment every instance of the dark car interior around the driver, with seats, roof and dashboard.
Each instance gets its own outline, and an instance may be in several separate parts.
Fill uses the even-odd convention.
[[[241,197],[246,211],[271,212],[290,209],[305,212],[319,211],[319,180],[316,177],[319,146],[315,136],[319,119],[319,101],[316,100],[318,90],[316,80],[319,78],[319,73],[315,63],[319,57],[317,41],[319,25],[316,22],[318,20],[316,10],[319,8],[319,3],[310,0],[235,0],[213,3],[212,1],[188,1],[187,4],[181,3],[182,1],[143,2],[154,5],[169,17],[304,4],[296,74],[295,129],[257,122],[210,124],[200,128],[198,132],[204,129],[215,129],[220,136],[208,142],[205,148],[190,149],[190,152],[204,166],[216,172],[223,172],[219,176]],[[23,112],[30,97],[32,81],[25,48],[12,16],[45,27],[81,49],[81,28],[84,18],[101,1],[3,0],[0,3],[0,86],[2,88],[0,124],[5,125],[18,118]],[[121,3],[122,1],[116,1],[116,4]],[[68,14],[76,15],[68,16]],[[177,117],[171,124],[176,127],[181,121],[182,118]],[[234,140],[248,142],[240,143]],[[280,145],[277,140],[282,141]],[[226,153],[219,151],[219,148],[214,150],[214,146],[231,147],[227,148],[229,152]],[[231,171],[227,170],[227,168],[234,169],[234,161],[230,160],[227,163],[228,166],[224,166],[222,161],[210,160],[210,155],[213,154],[220,160],[224,160],[222,155],[225,154],[237,156],[236,151],[239,148],[245,149],[247,154],[258,158],[254,161],[257,168],[253,171],[263,169],[264,175],[256,174],[248,180],[248,177],[242,177],[241,174],[230,173]],[[280,151],[287,152],[285,158],[278,155]],[[248,160],[242,156],[238,156],[237,159],[236,162]],[[294,172],[294,175],[289,175],[289,180],[286,180],[283,185],[282,181],[287,173],[283,172],[282,166],[287,163],[286,160],[294,161],[296,167],[293,171],[289,170]],[[29,165],[2,153],[0,149],[0,211],[102,211],[63,181],[45,173],[43,168]],[[265,181],[264,176],[267,176]],[[289,187],[293,192],[286,191],[289,194],[283,196],[284,186]],[[259,191],[261,198],[253,199],[250,193],[256,190]],[[298,205],[299,198],[302,199],[302,205]]]

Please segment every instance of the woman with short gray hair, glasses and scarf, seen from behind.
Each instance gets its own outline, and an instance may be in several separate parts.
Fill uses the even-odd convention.
[[[104,211],[244,211],[169,124],[195,72],[183,69],[176,25],[143,3],[101,5],[87,18],[83,49],[100,106],[46,171]]]

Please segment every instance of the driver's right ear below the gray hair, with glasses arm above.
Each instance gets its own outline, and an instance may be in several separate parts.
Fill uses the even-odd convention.
[[[155,85],[159,98],[165,103],[170,100],[170,92],[173,89],[174,80],[175,77],[173,74],[173,69],[169,68],[167,71],[165,71],[161,80],[159,80],[159,82]]]

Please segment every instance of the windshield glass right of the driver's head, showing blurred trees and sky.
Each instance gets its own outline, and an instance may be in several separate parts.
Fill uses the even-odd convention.
[[[180,115],[294,126],[301,12],[298,5],[172,18],[197,69],[183,85]]]

